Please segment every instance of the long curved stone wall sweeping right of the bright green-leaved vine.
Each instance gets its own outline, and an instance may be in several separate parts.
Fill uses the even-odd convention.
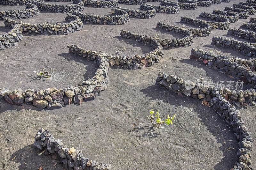
[[[159,72],[156,79],[156,84],[163,85],[169,90],[172,90],[180,95],[185,94],[201,100],[206,98],[212,98],[209,101],[211,106],[217,113],[224,118],[228,125],[233,127],[238,139],[239,150],[237,156],[239,156],[234,170],[251,170],[251,151],[252,151],[252,137],[248,128],[244,126],[244,121],[241,119],[240,111],[236,109],[231,103],[226,100],[221,91],[214,89],[213,87],[202,86],[202,84],[192,81],[183,81],[177,76],[168,75],[163,72]],[[186,87],[186,85],[189,85]],[[189,88],[188,88],[189,87]],[[207,97],[204,97],[204,96]],[[210,97],[208,97],[210,96]]]

